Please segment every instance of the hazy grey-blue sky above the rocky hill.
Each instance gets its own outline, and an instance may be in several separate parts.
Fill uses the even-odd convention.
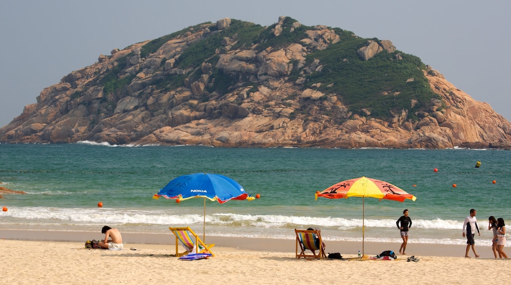
[[[225,17],[269,26],[279,16],[390,40],[511,120],[509,11],[508,0],[2,1],[0,127],[115,48]]]

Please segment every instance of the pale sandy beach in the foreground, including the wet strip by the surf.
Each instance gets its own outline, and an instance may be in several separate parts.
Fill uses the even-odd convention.
[[[490,284],[511,278],[500,270],[510,260],[494,259],[491,248],[477,247],[479,258],[464,258],[463,245],[409,243],[402,260],[304,260],[295,258],[294,240],[239,239],[206,236],[215,243],[215,257],[184,261],[175,254],[174,235],[123,234],[120,251],[85,249],[89,232],[0,230],[0,281],[6,284],[120,284],[208,283],[292,284],[304,280],[319,284]],[[383,250],[399,250],[400,244],[364,243],[364,252],[375,256]],[[136,250],[131,250],[134,248]],[[179,247],[181,250],[181,247]],[[327,252],[356,257],[358,242],[329,242]],[[506,248],[507,249],[507,248]],[[407,262],[414,255],[419,262]],[[471,255],[473,255],[471,253]],[[387,281],[385,281],[387,280]],[[407,281],[408,283],[408,281]]]

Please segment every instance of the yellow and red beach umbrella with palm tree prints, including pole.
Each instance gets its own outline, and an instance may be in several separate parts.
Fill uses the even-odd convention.
[[[403,202],[406,199],[415,201],[415,196],[406,193],[400,187],[388,182],[371,179],[367,177],[359,177],[341,181],[335,185],[316,192],[316,200],[318,197],[329,199],[362,197],[362,254],[364,253],[364,198],[371,197],[376,199],[394,200]]]

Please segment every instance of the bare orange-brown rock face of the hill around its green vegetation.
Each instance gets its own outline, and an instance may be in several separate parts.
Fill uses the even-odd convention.
[[[297,21],[286,26],[285,20],[280,17],[271,28],[274,37],[303,27]],[[262,51],[256,49],[261,43],[235,49],[240,36],[236,34],[222,39],[216,61],[179,65],[195,42],[231,25],[228,18],[203,24],[150,53],[144,51],[146,41],[100,55],[95,64],[42,90],[37,104],[26,106],[0,129],[0,142],[337,148],[511,145],[511,124],[505,118],[429,66],[424,76],[441,100],[416,112],[419,120],[409,120],[408,110],[392,111],[386,121],[371,117],[366,108],[361,109],[364,116],[353,114],[337,94],[319,90],[321,82],[307,80],[307,75],[323,72],[323,63],[308,61],[307,55],[340,41],[325,26],[306,30],[299,42]],[[388,40],[369,40],[353,52],[367,61],[383,51],[402,59]],[[298,76],[292,77],[293,72]],[[211,91],[226,77],[230,81],[225,92]],[[168,78],[180,78],[180,84],[162,85]],[[412,100],[410,109],[416,104]]]

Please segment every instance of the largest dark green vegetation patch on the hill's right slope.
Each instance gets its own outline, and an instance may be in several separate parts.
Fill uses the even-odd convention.
[[[414,111],[429,106],[431,99],[440,99],[424,76],[424,63],[413,55],[399,51],[380,52],[373,58],[363,61],[356,51],[368,39],[355,37],[351,33],[336,30],[341,35],[338,43],[328,49],[307,56],[307,61],[319,59],[320,72],[308,76],[308,82],[320,82],[322,92],[335,93],[341,102],[355,114],[364,115],[365,108],[371,117],[389,118],[393,112],[409,110],[409,117],[415,118]],[[373,39],[379,42],[378,39]],[[396,55],[402,59],[397,59]],[[407,80],[410,80],[407,82]],[[417,100],[414,108],[411,101]]]

